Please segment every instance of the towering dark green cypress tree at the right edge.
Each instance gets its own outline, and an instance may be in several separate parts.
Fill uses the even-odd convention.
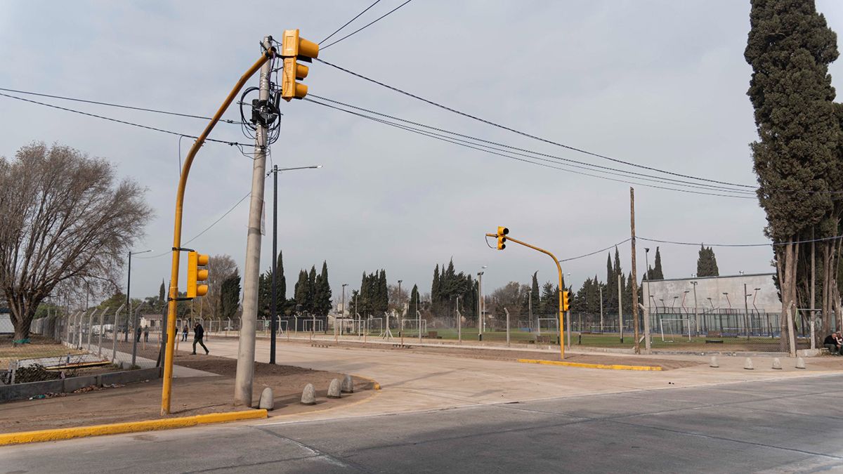
[[[808,237],[836,234],[838,218],[828,180],[840,170],[840,121],[828,66],[838,57],[837,37],[813,0],[753,0],[744,58],[752,66],[749,100],[759,141],[750,145],[766,234],[774,248],[781,289],[781,327],[797,302],[799,247]],[[787,192],[801,190],[804,192]],[[825,224],[825,225],[818,225]],[[824,310],[825,304],[824,304]],[[824,311],[825,312],[825,311]],[[781,348],[787,348],[786,329]]]

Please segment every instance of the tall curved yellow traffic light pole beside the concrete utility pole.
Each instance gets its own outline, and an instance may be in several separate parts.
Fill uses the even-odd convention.
[[[179,177],[179,187],[175,193],[175,224],[173,228],[173,261],[172,267],[170,272],[170,284],[169,284],[169,298],[167,303],[167,346],[164,350],[164,382],[162,385],[161,390],[161,415],[168,415],[170,410],[170,391],[172,388],[173,382],[173,353],[175,348],[175,317],[176,317],[176,304],[177,298],[179,296],[178,286],[179,286],[179,261],[180,261],[180,247],[181,247],[181,217],[182,217],[182,208],[184,207],[185,201],[185,187],[187,186],[187,176],[190,174],[191,171],[191,164],[193,164],[193,159],[196,158],[196,153],[201,148],[202,144],[205,143],[208,135],[213,130],[213,127],[217,125],[217,122],[222,118],[223,113],[225,110],[228,109],[228,106],[234,102],[234,99],[237,97],[240,89],[243,88],[243,85],[246,83],[249,78],[251,78],[255,72],[257,72],[260,67],[263,67],[271,57],[274,57],[276,54],[274,48],[267,48],[267,50],[261,55],[260,59],[258,59],[255,64],[252,66],[239,78],[236,84],[234,84],[234,89],[231,89],[231,92],[228,93],[228,97],[225,98],[223,101],[223,105],[220,105],[217,113],[214,114],[211,121],[205,127],[205,130],[202,131],[201,135],[196,138],[196,142],[193,143],[191,150],[187,153],[187,157],[185,158],[185,164],[181,168],[181,175]],[[254,334],[252,335],[254,337]]]

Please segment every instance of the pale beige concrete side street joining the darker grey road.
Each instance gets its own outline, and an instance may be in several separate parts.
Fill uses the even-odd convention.
[[[208,343],[213,355],[237,357],[236,339]],[[255,358],[269,360],[269,342],[258,340]],[[685,357],[688,358],[688,357]],[[744,358],[720,358],[712,369],[706,357],[690,357],[703,364],[664,372],[580,369],[519,364],[501,360],[461,358],[435,353],[408,353],[401,349],[373,350],[349,347],[310,347],[279,343],[279,364],[357,374],[377,380],[383,387],[372,401],[344,408],[341,412],[312,412],[297,421],[358,417],[373,414],[417,412],[470,407],[507,401],[535,401],[562,396],[583,396],[652,389],[717,385],[731,382],[788,379],[827,374],[829,369],[794,369],[784,359],[784,369],[771,369],[771,359],[754,358],[755,369],[744,370]],[[840,367],[833,370],[840,374]],[[255,391],[262,390],[256,387]]]

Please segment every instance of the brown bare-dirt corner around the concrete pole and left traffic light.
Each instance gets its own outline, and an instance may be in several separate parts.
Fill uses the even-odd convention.
[[[170,416],[233,411],[237,361],[188,354],[177,354],[176,364],[216,375],[175,378]],[[344,395],[341,399],[328,399],[330,380],[341,376],[320,370],[256,363],[253,404],[257,405],[266,386],[272,387],[275,396],[275,410],[270,412],[270,416],[342,407],[373,395],[371,381],[354,377],[353,394]],[[304,406],[299,401],[304,385],[309,383],[316,389],[317,403]],[[153,419],[159,417],[160,403],[161,380],[55,398],[12,401],[0,405],[0,426],[3,427],[0,431],[9,433]]]

